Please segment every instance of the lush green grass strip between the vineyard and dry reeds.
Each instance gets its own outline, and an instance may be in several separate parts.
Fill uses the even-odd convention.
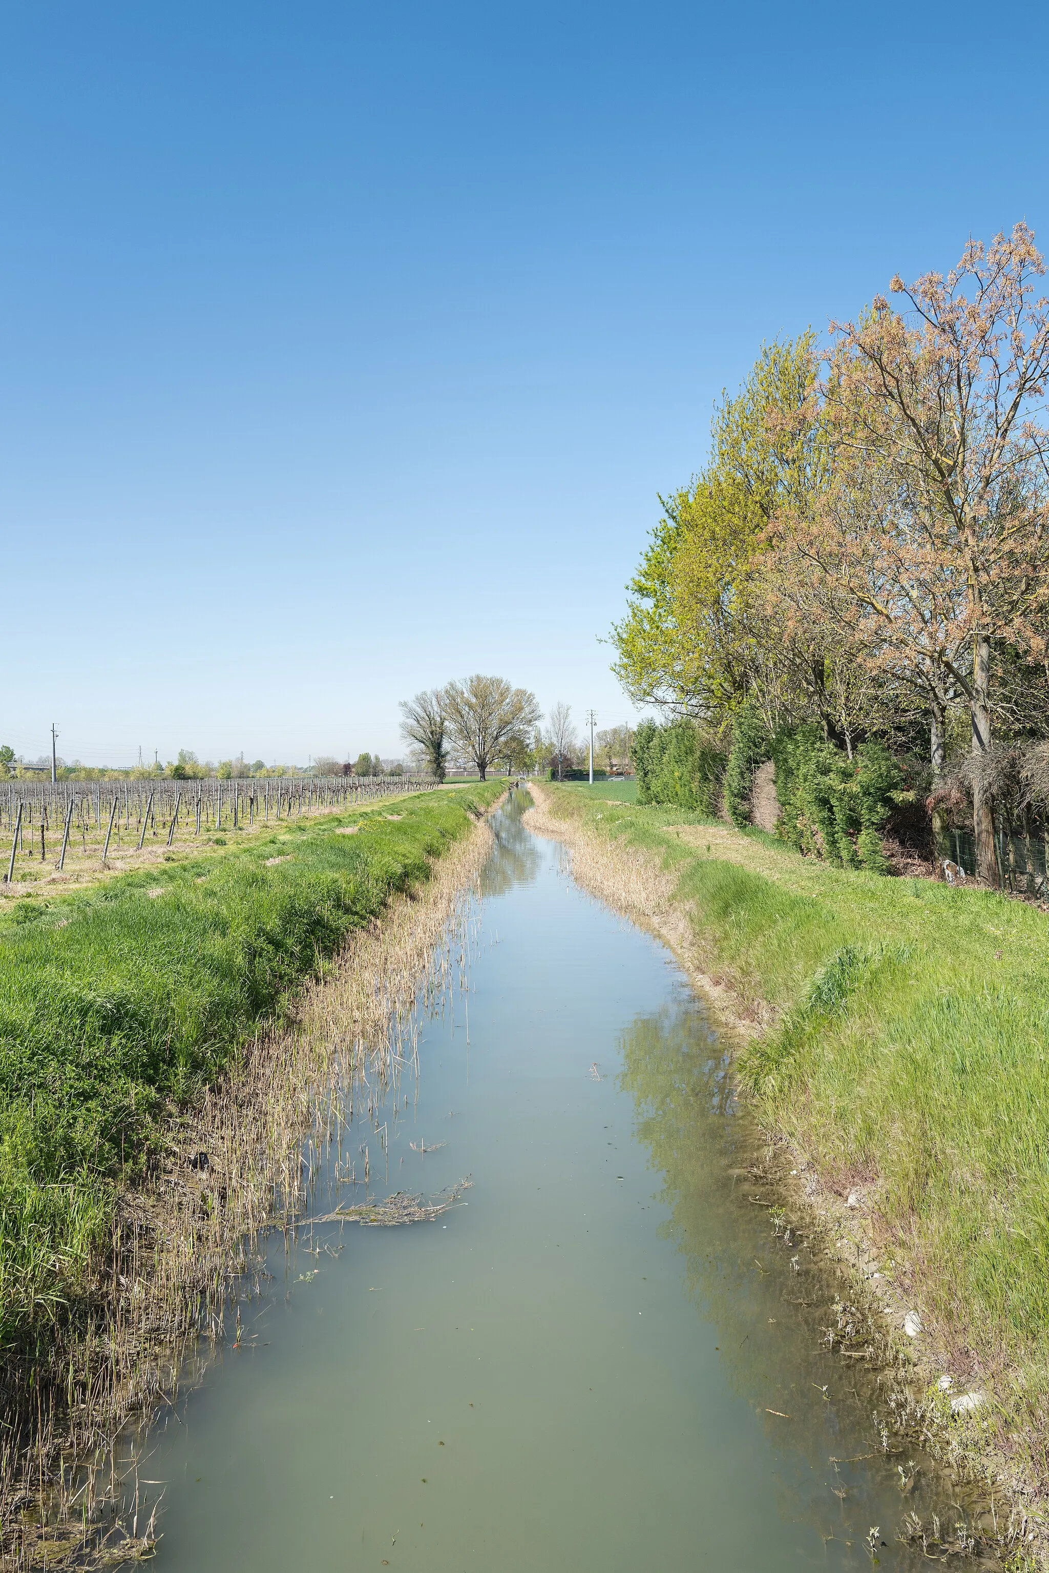
[[[398,820],[293,820],[225,853],[3,911],[0,1348],[75,1298],[118,1184],[171,1115],[503,790],[426,793],[399,802]],[[357,835],[337,834],[357,821]],[[285,860],[267,867],[274,857]]]

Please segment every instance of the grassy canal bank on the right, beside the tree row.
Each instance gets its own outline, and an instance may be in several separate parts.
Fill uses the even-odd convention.
[[[1049,917],[802,859],[760,832],[546,788],[672,875],[705,967],[761,1022],[738,1065],[841,1195],[983,1414],[1049,1483]]]

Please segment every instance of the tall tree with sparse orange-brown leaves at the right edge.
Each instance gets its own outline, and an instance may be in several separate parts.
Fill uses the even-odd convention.
[[[816,525],[823,566],[859,609],[878,662],[920,673],[933,708],[969,703],[972,750],[991,747],[992,647],[1046,659],[1049,376],[1044,261],[1025,223],[970,241],[944,278],[923,274],[835,326],[826,414],[838,483]],[[936,753],[936,742],[933,746]],[[974,774],[981,875],[992,804]]]

